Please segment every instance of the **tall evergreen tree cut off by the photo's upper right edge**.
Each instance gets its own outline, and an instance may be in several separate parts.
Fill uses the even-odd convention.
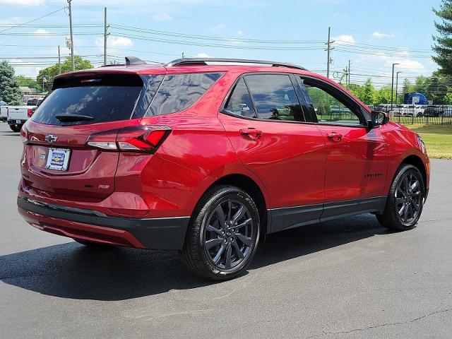
[[[438,36],[433,37],[435,42],[432,49],[436,53],[433,57],[439,65],[439,71],[452,75],[452,0],[442,0],[439,10],[432,8],[441,21],[435,21]]]

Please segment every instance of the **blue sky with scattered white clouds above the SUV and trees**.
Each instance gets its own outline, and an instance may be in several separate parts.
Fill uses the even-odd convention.
[[[103,8],[107,6],[108,23],[127,26],[126,30],[109,28],[109,61],[122,61],[126,55],[169,61],[184,52],[188,57],[286,61],[326,73],[323,47],[331,26],[335,40],[332,73],[343,70],[351,60],[352,82],[362,83],[369,75],[374,76],[378,86],[391,82],[393,62],[400,63],[401,78],[414,79],[436,70],[429,56],[435,34],[432,6],[438,8],[439,3],[439,0],[73,0],[74,44],[76,54],[87,55],[87,59],[100,64]],[[66,0],[0,0],[0,31],[64,6]],[[44,57],[56,57],[58,45],[62,55],[69,55],[64,47],[65,37],[69,37],[66,13],[59,11],[30,25],[0,32],[0,58],[12,61],[18,74],[33,77],[39,69],[56,61]],[[143,31],[136,32],[130,27]],[[149,30],[223,39],[174,37],[150,34]],[[201,45],[177,43],[181,41]],[[264,48],[249,48],[256,46]]]

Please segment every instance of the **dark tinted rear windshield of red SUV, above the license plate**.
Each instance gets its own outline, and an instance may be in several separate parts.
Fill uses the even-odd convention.
[[[130,119],[143,90],[143,81],[136,75],[56,80],[56,88],[36,109],[32,115],[33,121],[52,125],[68,124],[55,117],[59,114],[93,117],[92,120],[78,121],[76,124]]]

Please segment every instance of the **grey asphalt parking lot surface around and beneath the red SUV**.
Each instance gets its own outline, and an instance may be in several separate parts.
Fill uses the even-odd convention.
[[[452,161],[415,230],[373,215],[268,237],[225,283],[176,251],[87,249],[16,211],[18,133],[0,124],[0,338],[451,338]]]

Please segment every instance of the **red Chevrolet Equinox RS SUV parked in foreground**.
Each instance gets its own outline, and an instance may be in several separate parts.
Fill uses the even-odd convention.
[[[242,273],[280,230],[359,213],[409,230],[429,190],[420,136],[290,64],[130,57],[66,73],[21,135],[30,225],[178,249],[214,280]]]

